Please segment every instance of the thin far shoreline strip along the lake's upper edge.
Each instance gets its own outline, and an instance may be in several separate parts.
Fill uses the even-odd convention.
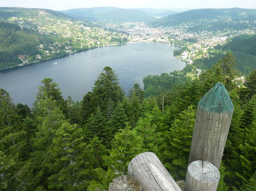
[[[146,42],[146,43],[153,43],[153,44],[165,44],[165,45],[169,45],[169,46],[175,46],[175,45],[172,45],[172,44],[169,44],[169,43],[152,42],[152,41],[146,41],[146,40],[135,41],[135,42],[127,42],[125,44],[109,44],[109,45],[103,45],[103,46],[93,47],[93,48],[89,48],[89,49],[80,49],[80,50],[77,50],[77,51],[75,50],[72,53],[69,53],[69,54],[66,54],[66,55],[61,55],[61,56],[56,56],[56,57],[52,57],[52,58],[47,58],[45,60],[33,61],[33,62],[30,62],[30,63],[27,63],[27,64],[25,64],[26,63],[25,62],[23,65],[15,65],[15,66],[13,66],[11,68],[1,69],[0,72],[1,71],[12,70],[12,69],[17,69],[17,68],[21,68],[21,67],[27,67],[29,65],[38,64],[38,63],[42,63],[42,62],[46,62],[46,61],[50,61],[50,60],[54,60],[54,59],[58,59],[58,58],[63,58],[63,57],[69,56],[69,55],[73,55],[75,53],[86,52],[88,50],[93,50],[93,49],[96,49],[96,48],[107,47],[107,46],[119,46],[119,45],[126,45],[126,44],[134,44],[134,43],[139,43],[139,42]]]

